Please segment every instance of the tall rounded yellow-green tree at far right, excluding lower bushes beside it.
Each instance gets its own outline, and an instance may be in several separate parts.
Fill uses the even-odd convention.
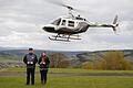
[[[123,52],[106,52],[103,56],[103,69],[131,69],[132,66],[129,61],[124,58]]]

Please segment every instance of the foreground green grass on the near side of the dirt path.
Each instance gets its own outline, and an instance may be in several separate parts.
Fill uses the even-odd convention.
[[[49,76],[45,88],[133,88],[132,77]],[[34,86],[25,86],[25,77],[0,76],[1,88],[41,88],[40,77]]]

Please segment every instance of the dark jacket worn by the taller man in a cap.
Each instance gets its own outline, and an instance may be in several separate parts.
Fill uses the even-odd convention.
[[[38,62],[35,54],[27,54],[23,58],[23,63],[27,64],[27,68],[35,68],[35,64]]]

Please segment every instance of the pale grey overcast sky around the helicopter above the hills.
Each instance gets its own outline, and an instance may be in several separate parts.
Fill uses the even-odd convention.
[[[117,33],[90,28],[80,41],[53,42],[43,25],[65,15],[63,2],[83,10],[90,22],[112,23],[119,15]],[[133,0],[0,0],[0,47],[33,47],[51,51],[133,50]]]

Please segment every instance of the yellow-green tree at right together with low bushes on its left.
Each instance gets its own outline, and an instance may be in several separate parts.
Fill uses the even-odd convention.
[[[85,62],[82,67],[85,69],[132,69],[131,63],[124,58],[124,53],[117,51],[106,52],[102,59],[93,63]]]

